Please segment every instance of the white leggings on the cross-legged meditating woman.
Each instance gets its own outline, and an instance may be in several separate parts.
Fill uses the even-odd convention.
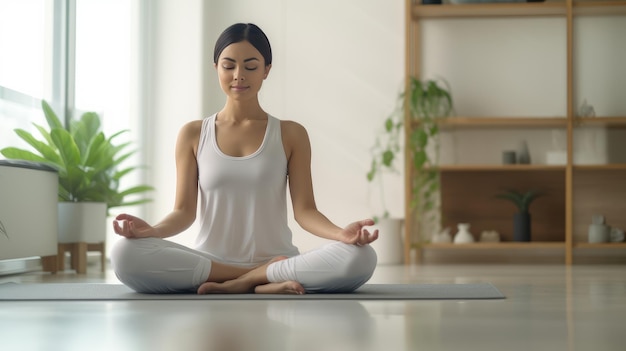
[[[158,238],[121,239],[111,256],[118,279],[142,293],[196,291],[207,281],[213,260],[209,253]],[[375,267],[376,253],[369,245],[333,242],[270,264],[267,278],[297,281],[307,293],[346,293],[365,284]]]

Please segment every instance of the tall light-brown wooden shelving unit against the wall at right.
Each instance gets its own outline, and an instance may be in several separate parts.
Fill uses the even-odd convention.
[[[450,20],[464,18],[513,18],[513,17],[559,17],[566,25],[566,115],[545,117],[512,116],[453,116],[441,122],[444,131],[455,130],[514,130],[559,129],[564,131],[567,143],[567,160],[563,165],[494,165],[452,164],[441,165],[443,227],[456,229],[455,224],[471,222],[472,233],[496,229],[502,242],[474,244],[433,244],[421,240],[414,227],[415,213],[410,208],[411,191],[405,194],[405,261],[410,262],[411,251],[416,251],[418,262],[424,250],[464,252],[522,250],[532,255],[533,250],[555,250],[565,254],[565,263],[574,263],[574,251],[626,250],[626,243],[590,244],[586,242],[587,225],[591,214],[603,209],[610,224],[626,229],[626,161],[600,165],[576,164],[574,157],[574,132],[577,128],[602,127],[626,129],[626,116],[577,117],[574,102],[574,20],[579,16],[626,15],[626,1],[574,1],[548,0],[540,3],[478,3],[422,5],[419,1],[406,0],[406,72],[420,77],[422,73],[423,35],[422,20]],[[406,120],[406,133],[415,126]],[[409,152],[407,152],[407,155]],[[408,156],[407,156],[408,157]],[[414,170],[405,161],[405,188],[411,189]],[[462,179],[462,182],[459,180]],[[499,189],[514,185],[533,186],[541,184],[549,196],[537,200],[533,209],[533,238],[535,241],[519,243],[511,241],[509,226],[512,225],[510,208],[490,201]],[[481,198],[480,196],[483,196]],[[452,198],[452,200],[448,198]],[[600,199],[600,200],[598,200]],[[469,206],[467,204],[470,204]],[[537,215],[535,215],[537,214]],[[415,239],[417,238],[417,240]]]

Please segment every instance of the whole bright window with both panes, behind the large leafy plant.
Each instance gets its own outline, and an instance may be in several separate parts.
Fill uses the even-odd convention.
[[[0,148],[25,147],[15,128],[36,133],[33,122],[46,124],[42,99],[61,118],[95,111],[107,135],[129,129],[124,138],[138,140],[140,121],[131,118],[137,3],[0,1]]]

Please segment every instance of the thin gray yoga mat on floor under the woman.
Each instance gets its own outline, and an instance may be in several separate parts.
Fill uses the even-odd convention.
[[[0,301],[79,300],[469,300],[503,299],[490,283],[366,284],[350,294],[139,294],[121,284],[0,284]]]

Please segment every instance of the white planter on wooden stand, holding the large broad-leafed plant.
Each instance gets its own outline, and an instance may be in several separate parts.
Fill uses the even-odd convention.
[[[107,206],[103,202],[59,202],[59,243],[106,240]]]

